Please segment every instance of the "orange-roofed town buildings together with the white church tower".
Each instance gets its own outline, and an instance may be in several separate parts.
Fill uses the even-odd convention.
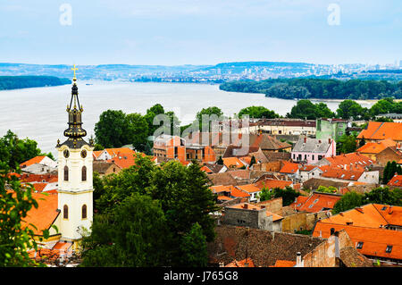
[[[24,221],[37,226],[39,247],[29,250],[30,258],[46,256],[52,266],[80,264],[73,258],[81,237],[75,228],[91,227],[92,181],[132,170],[139,155],[156,166],[175,161],[186,168],[199,164],[205,172],[217,205],[209,213],[215,238],[207,244],[208,266],[402,264],[402,172],[384,180],[390,163],[397,169],[402,165],[401,122],[366,122],[359,128],[335,118],[254,118],[247,126],[240,123],[230,139],[221,131],[197,131],[183,138],[162,134],[154,139],[153,155],[132,146],[95,151],[92,139],[83,140],[75,81],[67,109],[69,129],[64,131],[68,139],[57,142],[57,161],[39,155],[20,164],[21,174],[12,174],[22,187],[31,185],[32,197],[38,198],[38,208]],[[358,133],[356,151],[339,153],[336,141],[352,131]],[[244,138],[247,146],[242,145]],[[381,191],[395,193],[396,205],[369,199]],[[351,194],[369,202],[344,210]]]

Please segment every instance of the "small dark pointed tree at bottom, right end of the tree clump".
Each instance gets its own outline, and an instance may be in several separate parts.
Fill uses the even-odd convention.
[[[181,266],[205,267],[208,264],[206,238],[203,229],[197,222],[181,238],[180,250],[182,252]]]

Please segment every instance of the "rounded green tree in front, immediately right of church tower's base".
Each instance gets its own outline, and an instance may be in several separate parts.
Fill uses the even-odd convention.
[[[91,234],[82,242],[81,266],[166,266],[169,237],[159,203],[132,193],[111,213],[94,216]]]

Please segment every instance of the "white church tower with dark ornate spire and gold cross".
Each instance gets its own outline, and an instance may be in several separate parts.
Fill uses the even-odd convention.
[[[82,105],[78,96],[77,79],[74,71],[71,88],[71,101],[67,105],[69,128],[64,130],[67,140],[60,144],[58,151],[58,208],[61,211],[59,232],[61,239],[75,241],[81,238],[81,228],[90,229],[93,219],[92,151],[93,141],[89,144],[82,138],[87,131],[82,129]]]

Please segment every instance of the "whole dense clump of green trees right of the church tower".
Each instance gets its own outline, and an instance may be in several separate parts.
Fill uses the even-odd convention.
[[[95,193],[99,197],[96,198],[93,233],[84,244],[85,265],[205,264],[205,243],[214,239],[214,219],[210,213],[217,207],[206,174],[199,164],[193,162],[185,167],[171,161],[157,166],[147,156],[138,155],[136,164],[129,169],[108,175],[100,181],[95,176],[94,188],[94,197]],[[130,209],[138,207],[136,203],[140,203],[139,199],[147,202],[144,202],[147,205],[139,205],[142,212]],[[154,219],[142,218],[147,207],[155,210]],[[151,220],[161,221],[160,226],[163,224],[165,228],[156,227],[159,230],[152,231],[152,234],[157,237],[147,236],[146,239],[140,235],[143,232],[141,229],[146,231],[155,227]],[[139,229],[137,234],[130,229],[130,224]],[[163,239],[162,245],[159,238]],[[158,252],[152,252],[151,248],[157,248]],[[139,255],[142,250],[146,252],[144,256]],[[129,253],[124,254],[124,251]],[[187,256],[187,264],[183,264],[183,256]],[[149,260],[151,257],[154,263]],[[127,258],[132,261],[123,263]],[[194,263],[188,263],[188,260]]]

